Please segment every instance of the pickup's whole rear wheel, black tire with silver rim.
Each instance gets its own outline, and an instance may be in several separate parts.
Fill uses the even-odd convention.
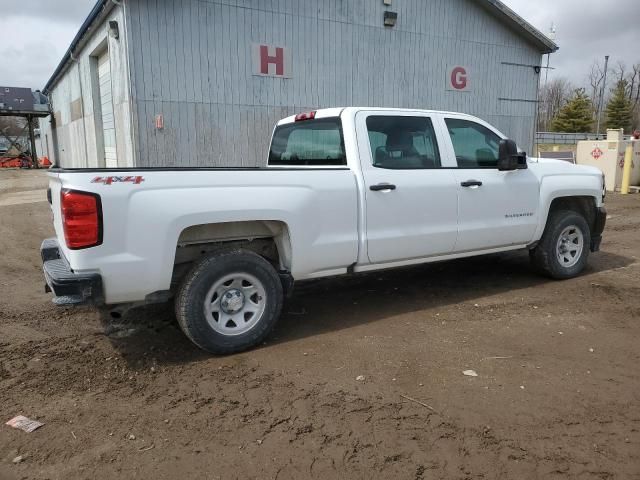
[[[280,316],[282,283],[264,258],[239,248],[196,263],[176,297],[176,317],[185,335],[216,355],[262,343]]]

